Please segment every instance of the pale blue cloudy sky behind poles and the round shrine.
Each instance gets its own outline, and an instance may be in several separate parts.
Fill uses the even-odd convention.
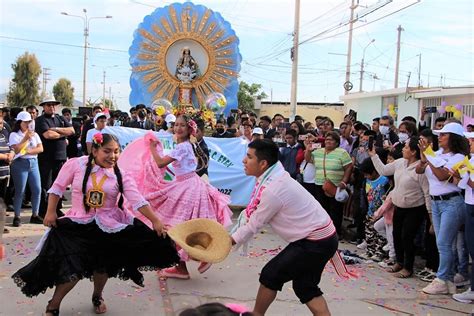
[[[87,98],[95,101],[102,97],[105,70],[106,97],[110,91],[119,108],[127,110],[131,74],[128,49],[133,33],[146,15],[173,2],[0,0],[0,93],[8,91],[13,75],[11,64],[28,51],[36,55],[42,67],[50,69],[48,93],[59,78],[67,78],[75,89],[75,99],[82,100],[83,21],[60,13],[82,15],[85,8],[89,17],[113,17],[90,21]],[[419,74],[423,86],[474,86],[474,1],[357,2],[355,13],[362,17],[354,23],[353,92],[359,90],[364,47],[363,90],[394,87],[399,25],[403,28],[399,87],[406,86],[408,78],[410,86],[418,86]],[[294,1],[194,3],[221,13],[235,30],[242,55],[239,80],[261,84],[269,96],[267,101],[289,101]],[[377,9],[383,3],[386,4]],[[344,94],[350,5],[350,0],[301,0],[298,102],[340,102],[339,97]]]

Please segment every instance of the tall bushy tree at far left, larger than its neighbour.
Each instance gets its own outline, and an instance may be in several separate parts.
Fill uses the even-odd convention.
[[[25,52],[12,64],[13,79],[7,94],[8,103],[15,107],[38,104],[41,65],[35,54]]]

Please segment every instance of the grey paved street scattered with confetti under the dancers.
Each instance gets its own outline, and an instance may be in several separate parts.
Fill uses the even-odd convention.
[[[11,213],[10,213],[11,214]],[[25,212],[24,222],[31,213]],[[10,233],[4,235],[7,258],[0,263],[0,315],[39,315],[52,295],[27,298],[21,294],[10,276],[34,256],[34,247],[44,228],[24,224],[11,227],[13,216],[7,217]],[[104,298],[108,315],[175,315],[187,307],[205,302],[238,302],[253,306],[258,288],[258,275],[263,265],[285,243],[271,229],[258,234],[247,256],[237,252],[221,264],[200,275],[197,264],[191,263],[191,280],[159,280],[156,273],[145,273],[145,288],[132,282],[111,279]],[[343,243],[340,249],[355,247]],[[126,254],[124,254],[126,255]],[[321,288],[333,315],[469,315],[474,305],[461,304],[449,296],[430,296],[419,290],[426,283],[415,278],[400,280],[375,264],[358,266],[361,277],[344,281],[331,267],[323,274]],[[82,280],[66,297],[61,315],[93,315],[90,301],[92,284]],[[296,299],[291,284],[286,284],[268,315],[308,315],[308,310]]]

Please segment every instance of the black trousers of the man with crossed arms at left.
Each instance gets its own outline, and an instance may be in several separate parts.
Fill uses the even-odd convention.
[[[54,180],[58,177],[59,170],[64,164],[64,160],[49,160],[45,158],[38,159],[38,166],[40,169],[41,177],[41,200],[39,208],[39,216],[44,217],[48,210],[48,190],[53,185]],[[62,203],[59,201],[56,212],[58,216],[61,216]]]

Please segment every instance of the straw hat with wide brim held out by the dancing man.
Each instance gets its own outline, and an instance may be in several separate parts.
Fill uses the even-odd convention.
[[[232,241],[225,228],[207,218],[192,219],[178,224],[168,230],[168,235],[189,257],[201,262],[221,262],[232,248]]]

